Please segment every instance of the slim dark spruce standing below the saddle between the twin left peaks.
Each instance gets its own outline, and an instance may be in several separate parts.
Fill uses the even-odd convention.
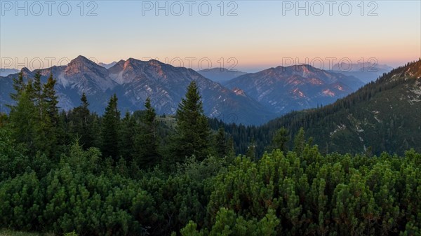
[[[116,162],[119,158],[120,111],[117,109],[117,96],[114,94],[108,102],[102,120],[102,155],[111,157]]]

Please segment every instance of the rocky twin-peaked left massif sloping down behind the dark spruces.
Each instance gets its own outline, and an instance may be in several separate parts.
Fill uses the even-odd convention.
[[[203,109],[210,117],[244,124],[275,117],[254,99],[238,95],[192,69],[173,67],[156,60],[144,62],[129,58],[106,69],[79,56],[67,66],[35,71],[24,68],[22,74],[25,79],[33,78],[36,71],[40,71],[41,81],[46,81],[50,74],[57,79],[58,106],[65,110],[79,106],[81,94],[85,92],[91,111],[103,113],[109,97],[116,93],[119,109],[123,112],[144,109],[145,99],[150,97],[157,113],[173,114],[187,86],[195,80],[201,92]],[[0,111],[7,111],[5,104],[12,102],[9,94],[13,92],[13,78],[16,77],[18,74],[0,77]],[[250,116],[252,113],[254,116]]]

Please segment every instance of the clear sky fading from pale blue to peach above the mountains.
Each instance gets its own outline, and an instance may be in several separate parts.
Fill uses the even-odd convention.
[[[151,58],[246,72],[421,57],[421,1],[4,1],[0,68]]]

